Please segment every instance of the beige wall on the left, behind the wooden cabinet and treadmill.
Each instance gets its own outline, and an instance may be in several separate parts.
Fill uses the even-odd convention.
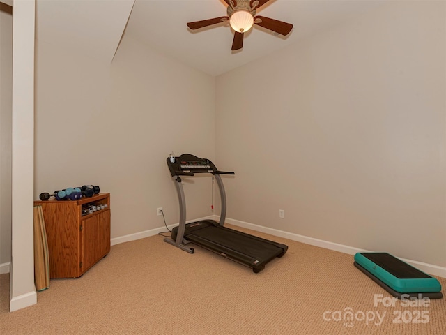
[[[38,40],[35,196],[99,185],[112,238],[178,223],[171,150],[215,151],[215,80],[125,36],[111,65]],[[195,185],[195,186],[194,186]],[[210,181],[185,183],[187,217],[210,214]]]

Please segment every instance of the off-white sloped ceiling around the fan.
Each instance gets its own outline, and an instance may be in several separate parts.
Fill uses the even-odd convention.
[[[229,24],[192,31],[186,23],[226,15],[224,0],[37,0],[36,38],[112,61],[122,36],[209,75],[220,75],[351,20],[385,0],[270,0],[257,15],[293,24],[288,36],[256,26],[231,51]]]

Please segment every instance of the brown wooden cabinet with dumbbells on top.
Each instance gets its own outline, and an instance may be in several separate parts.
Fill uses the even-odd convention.
[[[77,278],[110,251],[110,195],[35,201],[42,206],[51,278]],[[95,211],[93,211],[95,209]]]

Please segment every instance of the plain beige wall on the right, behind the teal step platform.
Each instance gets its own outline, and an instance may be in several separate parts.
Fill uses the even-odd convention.
[[[217,77],[228,217],[445,267],[445,6],[392,1]]]

